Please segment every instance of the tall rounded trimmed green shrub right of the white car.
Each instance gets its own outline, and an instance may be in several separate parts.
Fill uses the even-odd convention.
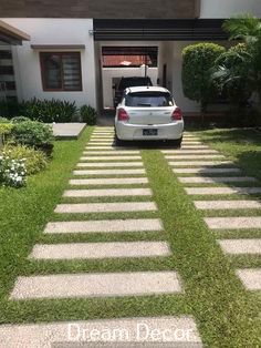
[[[218,95],[211,80],[215,61],[226,51],[216,43],[197,43],[182,51],[182,86],[184,94],[201,104],[201,112]]]

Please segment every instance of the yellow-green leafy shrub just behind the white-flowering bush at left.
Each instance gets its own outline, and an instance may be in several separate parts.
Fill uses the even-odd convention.
[[[48,157],[43,152],[24,145],[6,145],[3,154],[12,160],[24,160],[28,175],[41,172],[48,165]]]

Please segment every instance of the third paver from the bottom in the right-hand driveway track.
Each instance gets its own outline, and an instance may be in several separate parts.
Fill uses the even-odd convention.
[[[210,229],[261,229],[261,216],[242,217],[205,217]]]

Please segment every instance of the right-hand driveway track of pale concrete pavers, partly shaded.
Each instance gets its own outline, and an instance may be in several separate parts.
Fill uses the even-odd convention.
[[[211,217],[205,217],[205,222],[219,233],[218,243],[222,252],[234,256],[260,255],[259,238],[222,238],[225,231],[239,234],[246,229],[250,234],[251,231],[261,231],[261,202],[254,196],[261,194],[258,181],[244,176],[231,161],[226,161],[223,155],[189,133],[185,134],[180,150],[161,152],[180,183],[189,185],[185,191],[194,197],[196,208],[211,214]],[[242,186],[237,186],[239,183]],[[239,195],[246,198],[240,199]],[[233,209],[239,216],[232,215]],[[259,209],[259,216],[253,216],[251,209]],[[226,216],[220,216],[220,212],[226,212]],[[260,268],[236,269],[236,274],[248,290],[261,290]]]

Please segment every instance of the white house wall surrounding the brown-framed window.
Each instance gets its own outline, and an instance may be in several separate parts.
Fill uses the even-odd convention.
[[[15,72],[20,72],[17,73],[20,100],[29,100],[33,96],[39,99],[54,98],[75,101],[79,106],[90,104],[96,108],[94,41],[93,35],[90,34],[90,30],[93,30],[93,20],[4,18],[4,21],[31,37],[30,42],[23,42],[23,45],[13,48]],[[32,50],[31,44],[85,44],[85,50],[81,50],[83,90],[79,92],[44,92],[39,50]]]

